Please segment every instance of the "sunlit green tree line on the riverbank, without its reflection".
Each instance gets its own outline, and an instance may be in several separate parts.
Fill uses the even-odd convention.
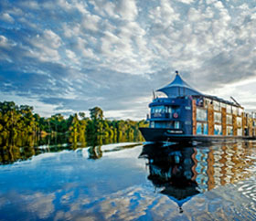
[[[146,121],[104,119],[99,107],[90,109],[90,116],[84,112],[64,118],[60,113],[49,118],[40,117],[33,112],[33,107],[16,105],[14,101],[0,102],[0,135],[4,137],[17,134],[58,134],[67,133],[70,139],[77,141],[101,136],[112,140],[141,137],[139,127],[147,126]],[[141,140],[141,139],[140,139]]]

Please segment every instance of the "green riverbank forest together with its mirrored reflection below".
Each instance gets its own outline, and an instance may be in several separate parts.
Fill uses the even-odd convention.
[[[60,113],[49,118],[33,112],[33,107],[0,102],[0,164],[14,163],[44,152],[89,147],[91,159],[101,158],[101,145],[115,142],[142,142],[139,127],[146,121],[107,120],[99,107],[65,118]]]

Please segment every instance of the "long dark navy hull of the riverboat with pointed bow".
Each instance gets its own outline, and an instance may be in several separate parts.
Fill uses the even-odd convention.
[[[225,142],[255,140],[248,136],[191,135],[165,128],[139,128],[146,142]]]

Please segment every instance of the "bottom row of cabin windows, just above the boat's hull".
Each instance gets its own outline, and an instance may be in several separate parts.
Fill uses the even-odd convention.
[[[202,122],[197,122],[197,134],[208,134],[208,123],[202,123]],[[214,135],[222,135],[222,126],[215,124],[214,125]],[[232,126],[227,126],[227,135],[232,136],[233,135],[233,127]],[[237,129],[237,135],[241,136],[242,135],[242,129],[238,128]]]

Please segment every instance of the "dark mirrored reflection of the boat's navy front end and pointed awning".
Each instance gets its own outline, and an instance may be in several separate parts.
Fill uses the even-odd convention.
[[[140,158],[147,158],[148,179],[179,206],[200,193],[197,178],[197,149],[175,144],[146,144]]]

